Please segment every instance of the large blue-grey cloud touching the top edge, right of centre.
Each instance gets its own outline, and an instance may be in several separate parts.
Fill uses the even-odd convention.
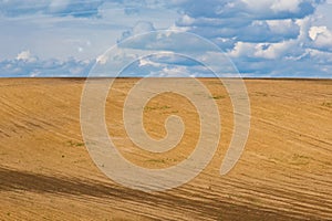
[[[178,3],[177,25],[206,36],[236,38],[245,42],[278,42],[295,39],[297,19],[314,12],[319,0],[212,0]]]

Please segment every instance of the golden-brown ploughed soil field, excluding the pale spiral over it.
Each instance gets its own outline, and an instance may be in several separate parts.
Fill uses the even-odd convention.
[[[155,97],[144,112],[149,135],[166,135],[169,114],[181,116],[187,129],[164,155],[139,150],[122,119],[124,98],[137,81],[116,81],[106,104],[108,131],[142,167],[176,165],[193,151],[198,115],[184,97]],[[246,80],[250,136],[237,166],[222,177],[231,103],[218,81],[201,81],[220,110],[217,154],[190,182],[146,193],[110,180],[90,158],[80,127],[84,80],[0,80],[0,220],[332,220],[332,81]]]

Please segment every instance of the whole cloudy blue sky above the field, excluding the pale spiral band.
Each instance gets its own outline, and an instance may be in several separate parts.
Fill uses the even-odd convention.
[[[173,30],[216,44],[243,77],[331,78],[331,11],[332,0],[0,0],[0,76],[87,76],[116,43]],[[123,75],[209,76],[195,60],[141,57]]]

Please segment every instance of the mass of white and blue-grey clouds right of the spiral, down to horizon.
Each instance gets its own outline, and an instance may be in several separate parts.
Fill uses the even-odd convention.
[[[322,0],[172,2],[181,12],[176,25],[214,41],[243,75],[331,76],[321,59],[331,57],[332,32],[313,24]]]

